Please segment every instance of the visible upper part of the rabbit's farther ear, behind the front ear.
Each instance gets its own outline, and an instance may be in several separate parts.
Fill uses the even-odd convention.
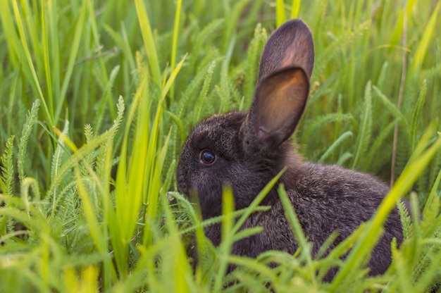
[[[311,78],[313,66],[314,43],[309,27],[298,18],[289,20],[273,32],[263,49],[259,82],[287,67],[304,68]]]

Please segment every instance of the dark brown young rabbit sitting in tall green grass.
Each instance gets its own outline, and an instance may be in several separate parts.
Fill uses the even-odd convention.
[[[280,170],[283,183],[315,256],[335,230],[337,246],[361,223],[369,220],[389,187],[372,175],[340,166],[304,162],[290,142],[309,95],[314,46],[309,27],[300,19],[275,30],[263,49],[259,78],[247,113],[232,111],[197,124],[182,146],[177,168],[178,188],[199,197],[204,220],[221,215],[223,186],[232,187],[235,209],[246,208]],[[277,184],[277,185],[278,185]],[[261,205],[268,211],[252,213],[242,228],[263,231],[235,242],[232,254],[255,258],[268,250],[298,249],[278,197],[277,185]],[[385,232],[373,249],[369,275],[385,273],[391,263],[390,242],[403,241],[397,208],[387,218]],[[221,243],[221,225],[204,230],[215,246]],[[325,276],[332,280],[337,268]]]

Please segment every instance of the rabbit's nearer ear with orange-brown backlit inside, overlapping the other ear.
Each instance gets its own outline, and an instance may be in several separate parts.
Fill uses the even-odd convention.
[[[240,135],[247,154],[277,149],[294,132],[306,105],[309,78],[285,68],[261,80]]]

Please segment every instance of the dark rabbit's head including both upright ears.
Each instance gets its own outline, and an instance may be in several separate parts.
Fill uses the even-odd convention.
[[[313,60],[309,28],[288,21],[263,50],[249,111],[214,115],[194,127],[180,154],[178,185],[187,195],[197,192],[204,218],[221,215],[223,186],[232,186],[235,207],[244,208],[282,168],[295,169],[288,140],[306,105]]]

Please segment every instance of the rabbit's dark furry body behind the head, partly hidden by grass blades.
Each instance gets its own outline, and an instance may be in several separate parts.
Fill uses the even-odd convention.
[[[288,168],[281,181],[304,234],[313,244],[313,256],[334,231],[338,232],[338,236],[329,249],[368,221],[389,191],[385,183],[371,175],[318,163],[303,163],[296,170]],[[298,249],[280,200],[274,193],[268,196],[273,197],[268,201],[271,209],[252,214],[244,224],[244,228],[260,225],[264,228],[263,232],[237,242],[232,249],[233,254],[255,257],[268,250],[294,254]],[[402,225],[397,208],[390,213],[385,233],[373,250],[368,263],[371,275],[384,273],[390,265],[393,237],[401,244]]]

